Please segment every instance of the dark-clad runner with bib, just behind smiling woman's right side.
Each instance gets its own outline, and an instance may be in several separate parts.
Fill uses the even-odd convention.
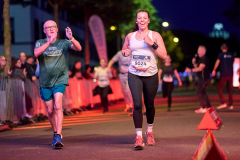
[[[178,71],[171,64],[171,61],[172,61],[171,57],[167,56],[165,64],[158,71],[159,82],[161,83],[161,81],[163,80],[163,83],[162,83],[163,97],[168,98],[168,111],[171,110],[171,104],[172,104],[172,91],[174,88],[173,74],[175,74],[175,76],[177,77],[179,86],[182,86],[182,81],[179,77]]]

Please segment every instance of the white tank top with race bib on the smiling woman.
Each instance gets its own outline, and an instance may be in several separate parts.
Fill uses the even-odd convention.
[[[144,40],[136,39],[136,33],[132,34],[129,43],[132,52],[129,72],[138,76],[152,76],[158,72],[156,54]],[[149,31],[148,36],[153,41],[152,31]]]

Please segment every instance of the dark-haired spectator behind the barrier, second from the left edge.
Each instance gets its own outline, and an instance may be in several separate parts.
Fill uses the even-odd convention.
[[[21,69],[21,61],[20,59],[16,58],[12,61],[12,66],[11,66],[11,70],[12,70],[12,74],[11,74],[11,78],[18,78],[21,79],[23,81],[25,81],[25,76],[27,74],[26,72],[26,68]]]

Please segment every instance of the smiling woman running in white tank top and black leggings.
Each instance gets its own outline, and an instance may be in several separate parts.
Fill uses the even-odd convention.
[[[157,56],[166,59],[167,51],[161,35],[148,29],[149,13],[140,10],[136,15],[133,32],[129,33],[122,48],[123,56],[131,55],[128,82],[133,97],[133,120],[136,130],[135,149],[143,149],[142,138],[142,93],[146,105],[147,145],[154,145],[153,121],[155,116],[154,98],[158,89]],[[130,48],[129,48],[130,47]]]

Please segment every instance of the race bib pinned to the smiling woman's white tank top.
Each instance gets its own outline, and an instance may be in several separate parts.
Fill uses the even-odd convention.
[[[146,71],[151,65],[150,60],[150,56],[134,55],[132,59],[132,66],[137,70]]]

